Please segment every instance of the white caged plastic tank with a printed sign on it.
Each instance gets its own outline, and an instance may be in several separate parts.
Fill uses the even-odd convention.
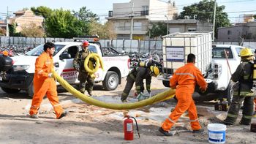
[[[195,54],[195,66],[204,74],[210,67],[211,32],[174,33],[163,36],[164,72],[173,73],[184,66],[189,53]]]

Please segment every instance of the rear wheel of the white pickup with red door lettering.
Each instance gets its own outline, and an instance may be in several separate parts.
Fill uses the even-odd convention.
[[[118,86],[118,83],[119,83],[119,77],[117,73],[113,71],[107,72],[105,79],[102,82],[103,87],[108,91],[115,90]]]

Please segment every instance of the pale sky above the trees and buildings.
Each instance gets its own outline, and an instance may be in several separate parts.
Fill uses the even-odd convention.
[[[4,2],[3,2],[4,1]],[[23,8],[45,6],[51,9],[63,8],[64,10],[78,11],[81,7],[91,10],[100,16],[100,20],[105,21],[108,16],[108,11],[113,9],[113,3],[129,2],[130,0],[0,0],[0,18],[5,18],[7,15],[7,7],[10,13]],[[168,0],[162,0],[168,1]],[[198,3],[200,0],[176,0],[178,12],[182,11],[183,7]],[[256,0],[216,0],[218,6],[225,5],[225,12],[231,22],[238,22],[241,14],[256,15]]]

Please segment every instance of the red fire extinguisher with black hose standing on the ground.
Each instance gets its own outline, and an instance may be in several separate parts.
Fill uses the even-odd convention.
[[[133,140],[133,121],[131,118],[135,120],[137,132],[140,137],[139,128],[138,128],[136,119],[134,117],[130,117],[129,115],[126,115],[124,118],[126,118],[124,120],[124,140]]]

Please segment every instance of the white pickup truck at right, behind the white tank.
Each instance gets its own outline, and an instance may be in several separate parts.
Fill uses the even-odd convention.
[[[244,47],[239,45],[213,45],[212,48],[211,69],[206,75],[206,81],[208,81],[207,93],[219,93],[219,98],[227,98],[230,101],[230,96],[232,96],[230,94],[231,74],[236,71],[240,64],[239,53]]]

